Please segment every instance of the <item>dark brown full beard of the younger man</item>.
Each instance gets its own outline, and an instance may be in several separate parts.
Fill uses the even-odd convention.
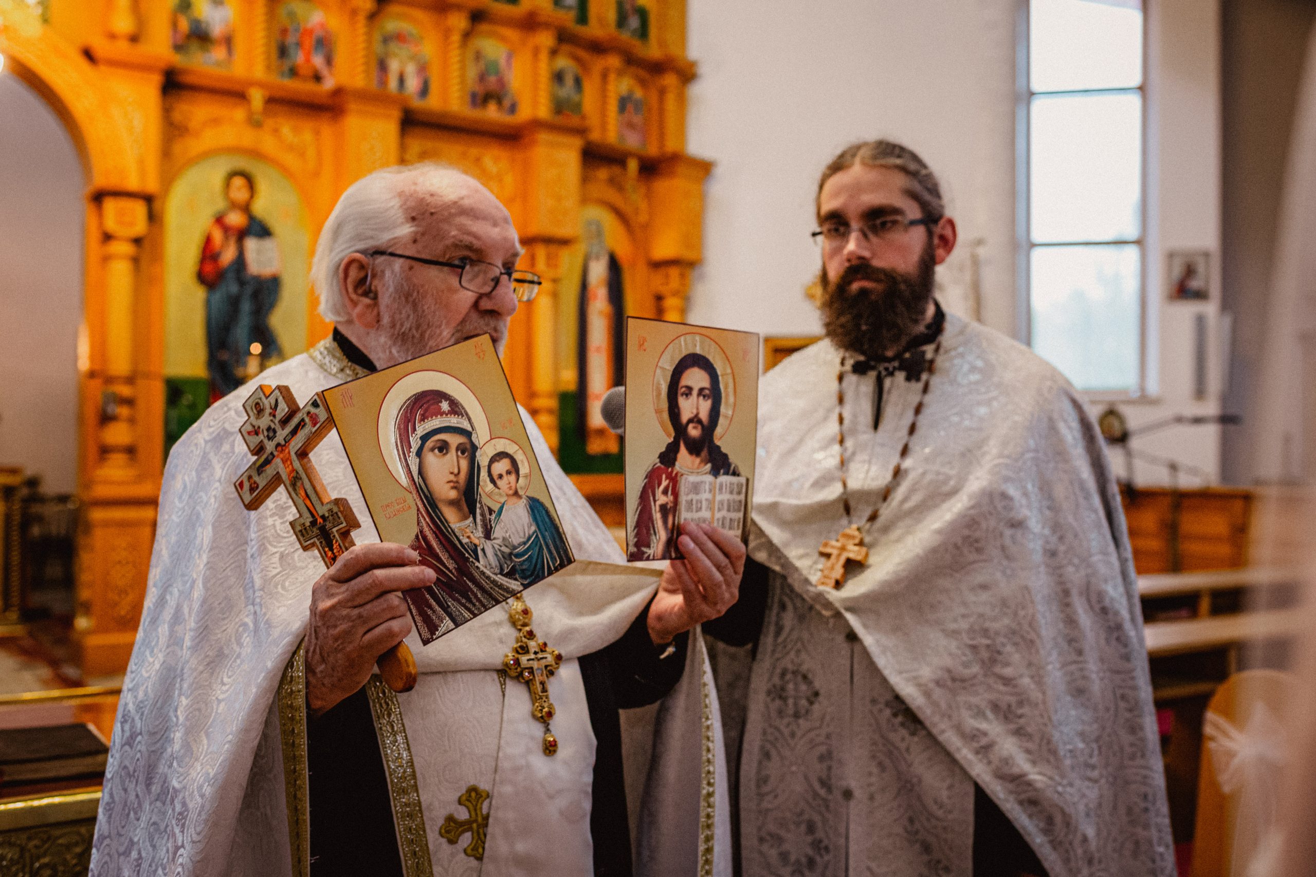
[[[899,352],[928,322],[936,267],[936,250],[929,241],[913,275],[857,262],[830,283],[824,268],[819,280],[826,337],[841,350],[866,359]],[[870,280],[876,289],[855,289],[858,280]]]

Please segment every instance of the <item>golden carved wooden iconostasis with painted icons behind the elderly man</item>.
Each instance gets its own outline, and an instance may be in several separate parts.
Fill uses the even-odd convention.
[[[626,314],[684,314],[709,170],[684,154],[684,0],[0,0],[4,75],[88,179],[86,676],[126,667],[168,447],[329,331],[316,235],[375,168],[449,163],[508,206],[546,280],[512,321],[512,389],[587,493],[620,497],[580,412],[621,380]]]

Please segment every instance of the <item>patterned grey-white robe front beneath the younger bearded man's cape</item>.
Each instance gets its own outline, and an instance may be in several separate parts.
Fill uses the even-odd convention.
[[[774,573],[767,618],[741,784],[747,873],[969,877],[969,774],[840,617]]]

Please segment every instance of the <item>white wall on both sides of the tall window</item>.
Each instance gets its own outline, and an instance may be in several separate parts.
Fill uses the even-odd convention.
[[[1192,317],[1209,314],[1219,359],[1220,118],[1216,0],[1148,3],[1148,335],[1152,398],[1123,404],[1134,426],[1217,413],[1192,397]],[[888,137],[942,180],[959,224],[938,271],[950,310],[1017,334],[1015,285],[1015,0],[690,0],[688,149],[716,162],[704,189],[704,263],[688,318],[767,335],[820,331],[803,296],[822,166],[857,139]],[[970,251],[978,245],[979,281]],[[1215,298],[1169,305],[1163,251],[1209,249]],[[1094,402],[1098,413],[1104,405]],[[1136,447],[1219,479],[1220,430],[1180,427]],[[1123,460],[1116,460],[1123,467]],[[1141,484],[1166,481],[1138,465]],[[1194,484],[1184,476],[1184,484]]]

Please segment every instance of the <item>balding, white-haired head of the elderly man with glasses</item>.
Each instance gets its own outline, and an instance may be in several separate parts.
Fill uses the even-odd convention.
[[[312,280],[320,313],[383,368],[486,333],[501,348],[516,312],[511,284],[467,289],[461,266],[511,271],[520,256],[512,217],[492,192],[455,168],[411,164],[343,192]]]

